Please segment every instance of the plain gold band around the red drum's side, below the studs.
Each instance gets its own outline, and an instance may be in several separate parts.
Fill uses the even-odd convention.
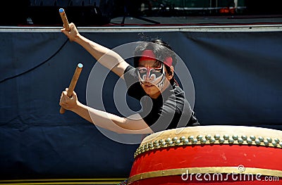
[[[240,167],[240,166],[239,166]],[[240,170],[239,167],[188,167],[188,168],[178,168],[170,170],[158,170],[153,172],[145,172],[142,174],[135,174],[128,179],[128,184],[134,181],[139,181],[141,179],[149,179],[154,177],[166,177],[174,175],[188,175],[188,174],[245,174],[245,175],[255,175],[259,174],[264,177],[276,177],[277,179],[282,177],[281,170],[268,170],[255,167],[244,167]],[[241,172],[242,171],[242,172]],[[180,177],[181,178],[181,177]]]

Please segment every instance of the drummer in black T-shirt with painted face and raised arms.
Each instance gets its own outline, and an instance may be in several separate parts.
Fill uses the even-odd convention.
[[[61,93],[60,106],[80,115],[94,125],[118,133],[150,134],[165,129],[200,125],[195,112],[173,77],[176,56],[168,44],[160,39],[141,42],[135,49],[134,67],[118,53],[83,37],[73,23],[70,31],[61,29],[72,42],[80,44],[99,63],[125,79],[128,95],[141,102],[140,113],[120,117],[102,110],[90,108],[78,101],[73,92]],[[102,59],[103,60],[99,60]],[[67,89],[66,89],[67,90]]]

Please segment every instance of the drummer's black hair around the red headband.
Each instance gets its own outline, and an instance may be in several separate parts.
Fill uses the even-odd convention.
[[[143,51],[145,50],[152,50],[154,55],[156,56],[156,59],[159,60],[161,63],[167,58],[172,58],[172,66],[175,68],[176,65],[176,54],[171,49],[171,46],[169,46],[166,42],[162,41],[161,39],[151,39],[149,42],[141,42],[135,49],[135,57],[133,59],[134,66],[137,68],[139,66],[139,59],[142,56]],[[171,68],[168,65],[164,65],[166,68],[166,71],[168,72],[168,75],[172,75]],[[171,79],[171,84],[176,82],[176,79],[174,77]],[[178,84],[176,82],[176,84]]]

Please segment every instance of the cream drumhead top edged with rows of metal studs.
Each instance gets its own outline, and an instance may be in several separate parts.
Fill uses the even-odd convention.
[[[251,131],[248,131],[250,129]],[[135,151],[134,158],[146,151],[171,146],[238,144],[282,148],[281,136],[282,131],[244,126],[199,126],[171,129],[147,136]]]

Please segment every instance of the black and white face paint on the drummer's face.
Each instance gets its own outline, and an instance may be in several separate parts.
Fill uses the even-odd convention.
[[[139,67],[137,69],[141,84],[144,84],[144,82],[149,82],[157,85],[157,87],[160,89],[164,87],[164,79],[166,79],[166,75],[164,72],[163,63],[161,63],[161,68]]]

